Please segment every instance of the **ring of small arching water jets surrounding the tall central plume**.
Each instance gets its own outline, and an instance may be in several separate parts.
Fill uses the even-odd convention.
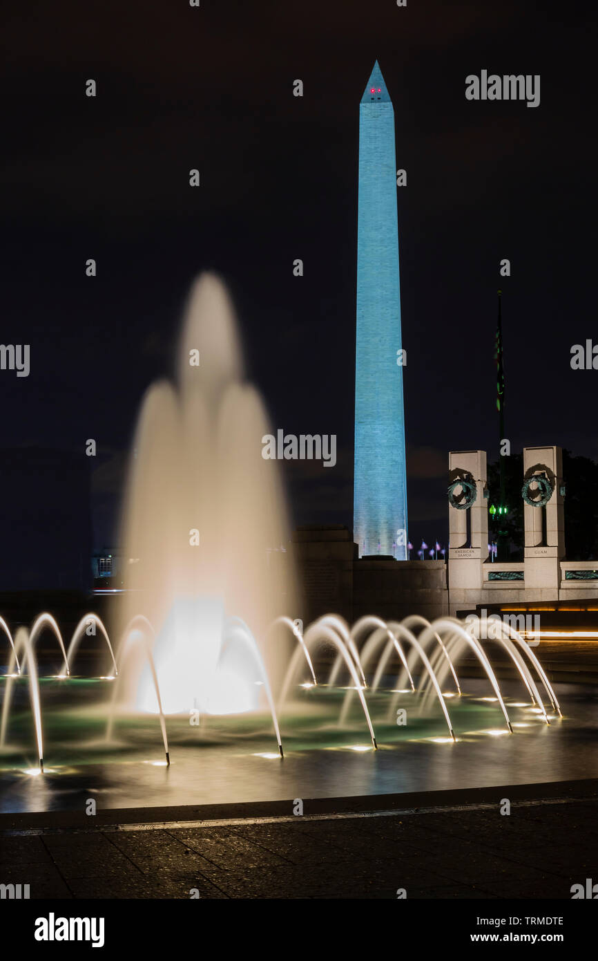
[[[60,651],[64,652],[64,668],[63,672],[58,675],[57,678],[66,680],[67,678],[72,677],[71,669],[73,658],[81,640],[83,629],[86,625],[91,623],[100,628],[101,634],[107,642],[111,664],[113,665],[113,674],[102,676],[101,679],[116,681],[117,678],[128,678],[130,684],[126,686],[131,687],[131,679],[135,678],[137,684],[143,687],[143,669],[147,667],[151,678],[153,694],[153,699],[146,699],[150,700],[150,707],[148,710],[149,713],[156,712],[159,715],[159,724],[162,733],[164,752],[166,755],[166,763],[169,765],[170,752],[168,747],[165,721],[165,714],[168,712],[166,712],[163,707],[163,678],[160,678],[155,664],[155,629],[147,617],[143,614],[135,615],[131,622],[124,629],[122,633],[122,644],[119,648],[117,658],[114,657],[107,628],[104,626],[100,618],[98,618],[95,614],[86,614],[78,624],[77,628],[75,628],[68,646],[68,653],[64,652],[60,628],[56,623],[56,620],[50,614],[44,613],[39,615],[39,617],[36,618],[36,622],[31,632],[27,631],[25,628],[18,628],[13,643],[12,636],[10,635],[9,628],[7,627],[7,633],[9,636],[11,636],[12,646],[9,670],[5,678],[5,692],[0,724],[0,749],[5,748],[7,744],[7,730],[11,712],[13,685],[15,680],[20,678],[21,675],[26,672],[31,707],[35,720],[39,765],[41,770],[43,770],[42,711],[34,642],[39,634],[40,628],[44,625],[47,628],[51,628],[53,633],[60,638]],[[290,630],[291,634],[296,637],[299,643],[295,647],[292,656],[287,658],[286,672],[284,674],[282,683],[280,684],[278,693],[278,711],[289,708],[290,692],[292,689],[294,690],[294,682],[301,669],[301,666],[303,669],[308,668],[311,678],[308,682],[303,682],[300,685],[301,688],[319,686],[321,689],[326,688],[328,690],[335,689],[335,685],[338,684],[339,674],[343,669],[345,669],[350,683],[346,689],[344,700],[339,712],[339,726],[346,726],[352,699],[355,695],[357,695],[359,701],[361,702],[365,723],[369,730],[371,745],[374,750],[377,750],[376,736],[372,726],[371,713],[368,707],[365,692],[366,690],[371,691],[371,693],[378,691],[380,688],[381,679],[384,676],[384,672],[388,669],[389,661],[393,653],[396,653],[400,670],[397,678],[395,679],[395,686],[389,692],[390,697],[388,702],[387,717],[393,717],[397,698],[401,693],[404,694],[406,691],[410,690],[412,694],[420,695],[420,715],[426,714],[429,708],[430,698],[436,697],[441,705],[450,739],[454,742],[457,740],[457,738],[445,701],[445,699],[449,697],[449,694],[443,694],[442,686],[444,681],[450,675],[455,682],[455,693],[459,697],[463,696],[462,687],[457,677],[456,667],[463,653],[466,652],[467,649],[470,649],[476,654],[476,657],[483,666],[486,676],[489,680],[490,687],[495,695],[494,698],[488,698],[486,700],[498,703],[499,709],[503,714],[507,730],[509,733],[513,734],[513,725],[507,711],[507,706],[503,700],[500,686],[490,665],[490,659],[487,653],[484,651],[479,640],[480,636],[488,636],[488,623],[489,622],[487,622],[485,619],[476,620],[474,618],[469,618],[467,624],[465,625],[455,618],[438,618],[436,621],[430,624],[425,620],[425,618],[419,616],[405,618],[400,623],[385,623],[377,617],[366,617],[362,618],[353,626],[353,628],[349,629],[342,618],[336,615],[327,615],[319,618],[316,622],[310,625],[305,631],[304,636],[302,636],[300,635],[298,628],[293,621],[286,617],[280,617],[273,622],[273,624],[270,626],[271,629],[275,628],[277,625],[281,625]],[[495,625],[496,622],[492,622],[492,627],[495,628]],[[418,628],[419,635],[416,633]],[[201,636],[202,635],[200,632],[199,637],[201,638]],[[196,635],[191,633],[190,637],[194,638]],[[359,639],[363,641],[364,637],[367,637],[367,640],[363,644],[360,653],[357,642]],[[525,653],[531,668],[536,672],[538,680],[543,685],[545,697],[546,700],[550,702],[551,709],[556,712],[558,717],[561,718],[561,706],[557,700],[557,696],[552,688],[552,685],[550,684],[545,672],[541,667],[541,664],[538,661],[538,657],[529,648],[525,641],[517,634],[514,628],[511,628],[509,625],[503,625],[502,623],[499,623],[498,629],[495,629],[494,639],[500,644],[500,646],[502,646],[503,649],[507,651],[507,653],[509,653],[510,657],[512,658],[519,677],[521,678],[521,681],[525,687],[526,694],[530,698],[530,707],[531,709],[537,711],[539,719],[545,722],[546,725],[550,724],[550,719],[539,694],[536,680],[534,679],[530,668],[526,665],[525,659],[521,655],[520,650]],[[196,639],[195,643],[201,643],[201,640],[198,641]],[[407,657],[404,653],[405,644],[409,645],[412,652],[409,657]],[[313,651],[322,645],[328,645],[336,653],[326,682],[323,682],[322,679],[318,681],[314,664],[310,656],[310,649]],[[249,652],[250,657],[248,664],[250,667],[250,678],[255,669],[257,669],[259,675],[258,684],[263,689],[263,694],[268,704],[268,709],[270,711],[275,729],[278,753],[280,757],[282,757],[282,740],[268,670],[262,653],[259,650],[259,646],[251,634],[251,630],[238,617],[230,617],[224,624],[222,639],[220,642],[220,653],[219,657],[214,663],[214,674],[212,676],[212,681],[214,681],[214,678],[218,677],[219,671],[221,670],[221,663],[226,659],[228,650],[232,649],[233,647],[237,647],[242,651],[244,650],[245,652]],[[375,671],[369,686],[367,675],[370,675],[371,677],[371,672],[369,672],[368,669],[371,666],[376,650],[379,651],[381,648],[383,649],[382,655],[375,663]],[[22,655],[22,669],[18,667],[19,653]],[[180,652],[178,653],[180,654]],[[184,668],[186,664],[187,661],[184,661],[182,667]],[[164,670],[163,665],[164,660],[162,663],[162,671],[166,677],[168,677],[169,670],[175,671],[180,669],[179,663],[175,664],[174,666],[167,664],[166,670]],[[419,688],[416,688],[414,674],[417,673],[418,665],[420,671],[420,680]],[[14,672],[15,666],[17,667],[16,673]],[[236,660],[235,666],[236,673],[232,671],[223,672],[223,690],[226,689],[229,678],[238,678],[240,676],[239,671],[241,668],[238,660]],[[404,687],[401,687],[401,685],[406,682],[407,678],[409,679],[411,689],[405,689]],[[248,684],[250,683],[251,681],[248,681]],[[200,690],[200,688],[197,689]],[[145,697],[146,695],[144,691],[144,698]],[[251,711],[258,709],[258,699],[254,698],[253,702],[245,702],[242,706],[240,706],[238,697],[238,689],[233,688],[231,699],[228,702],[229,709],[227,710],[225,708],[223,713],[234,714],[244,710]],[[117,687],[113,685],[111,704],[106,712],[108,717],[108,727],[106,732],[108,744],[111,743],[112,739],[112,730],[117,714],[117,700]],[[209,699],[207,699],[206,703],[209,702]],[[221,701],[219,702],[222,703]],[[517,703],[516,706],[527,706],[527,704],[524,703],[521,705]],[[139,711],[142,710],[142,708],[137,707],[135,710]],[[180,712],[171,711],[170,713]]]

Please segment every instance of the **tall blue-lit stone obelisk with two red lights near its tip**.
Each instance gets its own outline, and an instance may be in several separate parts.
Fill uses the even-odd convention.
[[[406,560],[395,111],[376,61],[359,108],[353,537],[359,555]]]

